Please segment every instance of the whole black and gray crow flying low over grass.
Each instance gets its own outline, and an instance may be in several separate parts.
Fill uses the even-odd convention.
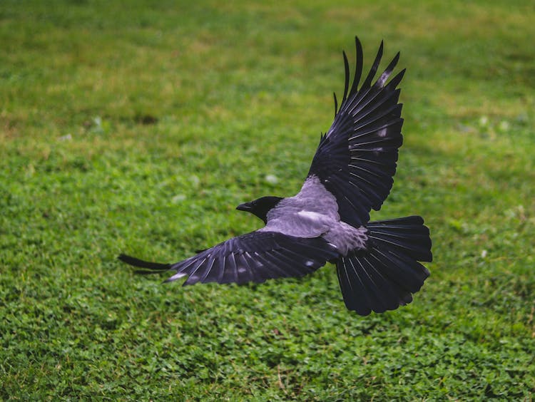
[[[310,171],[293,197],[260,197],[236,208],[265,226],[233,237],[174,264],[147,262],[121,254],[121,261],[145,271],[175,272],[165,282],[187,277],[220,284],[302,277],[327,262],[336,264],[347,309],[366,316],[412,301],[429,276],[419,262],[431,262],[429,229],[419,216],[370,222],[392,188],[402,145],[399,85],[405,70],[388,81],[399,53],[372,83],[383,42],[362,85],[362,45],[355,37],[356,68],[342,52],[345,88],[335,120],[320,135]],[[388,81],[388,82],[387,82]]]

